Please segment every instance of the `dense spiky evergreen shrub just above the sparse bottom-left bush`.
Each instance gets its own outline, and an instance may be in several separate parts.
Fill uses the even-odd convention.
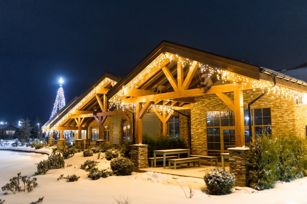
[[[34,175],[46,174],[49,169],[59,169],[64,168],[64,166],[65,162],[61,154],[52,152],[47,160],[40,161],[40,163],[37,164],[37,172],[35,172]]]

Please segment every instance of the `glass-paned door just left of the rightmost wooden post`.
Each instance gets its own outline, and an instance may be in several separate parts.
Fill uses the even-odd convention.
[[[229,152],[227,149],[235,147],[235,129],[229,127],[221,128],[221,152]]]

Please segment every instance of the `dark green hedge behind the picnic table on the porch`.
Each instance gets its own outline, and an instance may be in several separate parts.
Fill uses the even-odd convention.
[[[187,148],[185,142],[180,138],[151,137],[143,135],[142,143],[148,145],[148,157],[153,157],[153,150]]]

